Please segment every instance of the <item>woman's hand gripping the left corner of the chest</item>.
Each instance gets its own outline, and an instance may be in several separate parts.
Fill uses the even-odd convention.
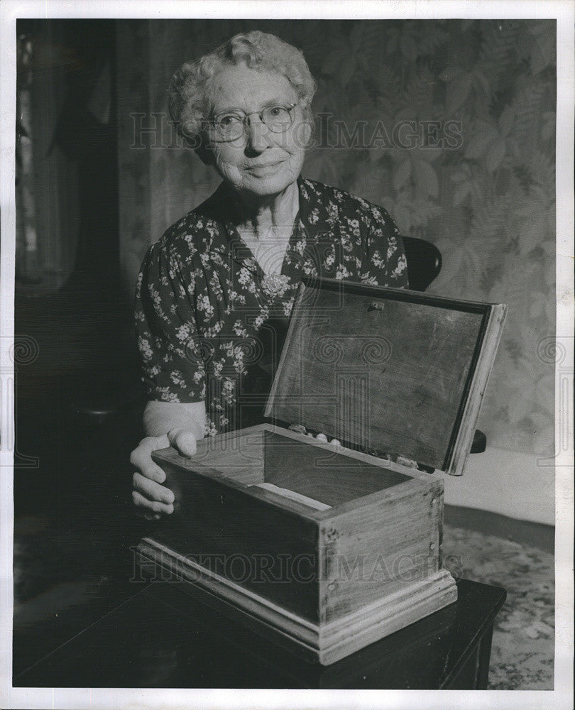
[[[136,512],[146,520],[159,520],[174,512],[174,493],[162,485],[165,473],[151,457],[153,451],[170,445],[182,456],[192,457],[196,453],[195,435],[175,428],[168,435],[142,439],[130,456],[130,463],[136,468],[132,479],[132,500]]]

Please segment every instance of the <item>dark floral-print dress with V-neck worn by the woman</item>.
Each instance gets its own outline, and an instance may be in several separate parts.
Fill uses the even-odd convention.
[[[298,285],[306,276],[407,287],[399,232],[381,207],[299,178],[281,272],[266,277],[222,183],[146,253],[136,333],[150,400],[205,400],[206,435],[261,422]]]

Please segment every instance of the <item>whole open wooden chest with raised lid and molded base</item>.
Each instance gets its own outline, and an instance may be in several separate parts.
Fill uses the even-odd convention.
[[[173,515],[138,555],[328,665],[456,599],[443,482],[460,475],[505,307],[332,280],[302,285],[264,424],[153,454]],[[288,430],[336,437],[344,447]]]

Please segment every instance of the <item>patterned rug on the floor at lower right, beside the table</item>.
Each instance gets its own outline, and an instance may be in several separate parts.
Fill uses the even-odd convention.
[[[489,689],[552,690],[554,556],[531,545],[444,526],[444,557],[455,577],[503,586],[493,631]]]

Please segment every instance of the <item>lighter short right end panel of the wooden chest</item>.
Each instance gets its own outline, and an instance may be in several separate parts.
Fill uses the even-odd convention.
[[[413,480],[324,520],[320,618],[331,621],[435,574],[440,567],[443,482]]]

